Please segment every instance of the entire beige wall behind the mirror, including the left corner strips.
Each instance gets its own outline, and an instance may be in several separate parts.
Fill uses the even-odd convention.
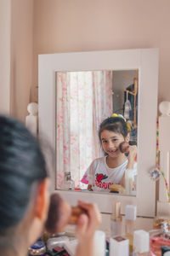
[[[72,51],[159,48],[159,102],[170,101],[169,9],[169,0],[0,0],[0,112],[24,120],[37,55]]]

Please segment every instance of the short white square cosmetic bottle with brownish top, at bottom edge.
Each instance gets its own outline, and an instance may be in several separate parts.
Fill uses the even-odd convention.
[[[110,256],[128,256],[129,241],[123,236],[110,238]]]

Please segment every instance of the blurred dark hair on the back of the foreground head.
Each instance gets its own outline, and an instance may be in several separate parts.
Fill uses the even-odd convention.
[[[0,115],[0,234],[20,222],[32,185],[47,176],[37,139],[16,119]]]

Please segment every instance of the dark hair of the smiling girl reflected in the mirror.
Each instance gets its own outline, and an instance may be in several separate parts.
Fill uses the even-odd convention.
[[[109,117],[99,125],[99,140],[101,132],[104,130],[121,133],[124,138],[128,134],[127,123],[121,117]]]

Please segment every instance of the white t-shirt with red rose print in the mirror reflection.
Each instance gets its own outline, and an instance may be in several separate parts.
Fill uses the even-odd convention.
[[[109,191],[111,184],[120,184],[123,174],[127,167],[127,160],[116,168],[110,168],[106,164],[106,156],[95,159],[88,167],[88,184],[93,186],[94,190]],[[133,176],[137,174],[137,163],[133,165]]]

